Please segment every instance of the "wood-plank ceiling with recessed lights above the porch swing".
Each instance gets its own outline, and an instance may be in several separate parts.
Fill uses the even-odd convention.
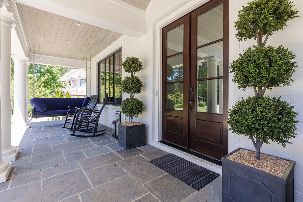
[[[16,4],[30,53],[33,53],[35,44],[36,54],[89,60],[90,55],[93,58],[122,36],[114,31]],[[80,23],[81,26],[76,26],[75,23]]]

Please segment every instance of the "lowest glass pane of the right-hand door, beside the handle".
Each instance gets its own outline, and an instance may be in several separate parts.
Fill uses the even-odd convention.
[[[223,113],[223,79],[197,81],[197,111]]]

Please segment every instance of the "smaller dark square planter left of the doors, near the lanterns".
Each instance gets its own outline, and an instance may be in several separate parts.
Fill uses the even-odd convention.
[[[120,144],[124,149],[131,149],[145,145],[145,124],[125,126],[119,125],[119,139]]]

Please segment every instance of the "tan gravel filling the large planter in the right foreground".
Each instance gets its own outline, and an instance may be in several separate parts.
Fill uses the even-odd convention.
[[[260,161],[258,161],[256,152],[246,149],[240,149],[226,158],[279,177],[283,176],[290,164],[290,161],[267,154],[260,154]]]

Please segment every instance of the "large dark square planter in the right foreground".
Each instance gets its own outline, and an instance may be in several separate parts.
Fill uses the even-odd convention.
[[[291,161],[291,163],[285,174],[282,177],[278,177],[226,159],[226,157],[240,149],[243,148],[238,148],[221,158],[224,202],[294,201],[295,161],[285,159]]]

